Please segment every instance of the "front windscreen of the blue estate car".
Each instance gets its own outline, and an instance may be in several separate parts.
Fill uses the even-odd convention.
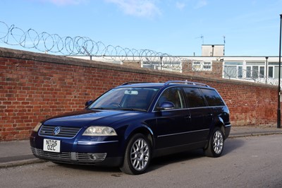
[[[114,88],[95,100],[90,109],[147,111],[157,88]]]

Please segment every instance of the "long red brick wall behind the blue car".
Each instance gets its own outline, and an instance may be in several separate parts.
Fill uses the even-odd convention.
[[[219,90],[233,126],[276,126],[277,87],[0,48],[0,141],[28,139],[42,119],[80,110],[127,81],[188,80]]]

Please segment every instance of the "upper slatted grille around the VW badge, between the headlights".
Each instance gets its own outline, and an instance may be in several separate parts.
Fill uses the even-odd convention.
[[[39,131],[39,135],[73,138],[76,134],[78,134],[78,131],[80,131],[81,129],[80,127],[59,127],[59,134],[54,134],[54,130],[56,127],[59,126],[43,125]]]

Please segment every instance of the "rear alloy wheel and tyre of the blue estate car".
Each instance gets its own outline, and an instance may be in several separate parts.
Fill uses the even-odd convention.
[[[204,154],[208,157],[218,158],[223,152],[224,136],[219,127],[215,127],[212,135],[209,138],[207,148],[204,149]]]

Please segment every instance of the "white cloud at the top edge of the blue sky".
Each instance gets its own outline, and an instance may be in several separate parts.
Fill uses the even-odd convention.
[[[128,15],[154,18],[161,15],[154,0],[106,0],[109,3],[118,5]]]

